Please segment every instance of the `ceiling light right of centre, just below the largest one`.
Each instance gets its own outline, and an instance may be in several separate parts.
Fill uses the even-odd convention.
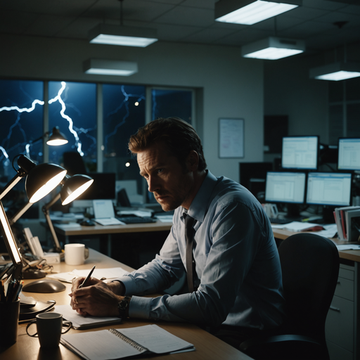
[[[305,43],[302,40],[281,39],[268,37],[252,44],[244,45],[241,54],[244,58],[256,58],[265,60],[278,60],[293,56],[305,51]]]

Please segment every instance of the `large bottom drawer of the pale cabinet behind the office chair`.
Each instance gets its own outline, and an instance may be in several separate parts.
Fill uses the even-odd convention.
[[[354,302],[334,296],[325,326],[326,340],[354,352]]]

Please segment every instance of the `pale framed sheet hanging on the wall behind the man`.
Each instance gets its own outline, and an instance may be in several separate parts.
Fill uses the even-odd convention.
[[[219,158],[244,157],[244,120],[219,119]]]

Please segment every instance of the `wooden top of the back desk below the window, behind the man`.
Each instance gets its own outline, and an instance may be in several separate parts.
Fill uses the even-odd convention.
[[[143,233],[148,231],[169,231],[172,228],[172,223],[156,222],[143,224],[127,224],[127,225],[109,225],[103,226],[96,224],[95,226],[80,226],[75,229],[63,229],[59,224],[53,224],[57,233],[65,236],[73,235],[101,235],[111,233]]]

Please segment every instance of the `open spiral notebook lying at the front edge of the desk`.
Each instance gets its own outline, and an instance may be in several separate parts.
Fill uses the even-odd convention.
[[[65,334],[60,342],[86,360],[121,359],[140,354],[194,351],[182,340],[157,325]]]

